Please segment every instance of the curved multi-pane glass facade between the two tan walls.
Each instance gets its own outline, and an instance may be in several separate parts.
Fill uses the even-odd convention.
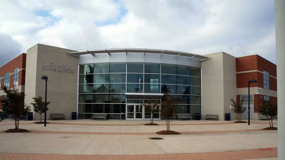
[[[177,100],[177,114],[201,113],[201,69],[153,63],[79,66],[78,118],[107,113],[107,119],[120,119],[122,113],[125,119],[128,103],[146,101],[126,99],[125,93],[168,93]]]

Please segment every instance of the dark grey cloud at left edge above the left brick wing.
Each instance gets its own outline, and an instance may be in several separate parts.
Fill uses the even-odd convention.
[[[11,36],[0,33],[0,66],[9,62],[21,52],[19,42],[12,39]]]

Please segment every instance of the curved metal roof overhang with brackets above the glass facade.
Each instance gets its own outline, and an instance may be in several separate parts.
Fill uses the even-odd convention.
[[[171,50],[162,50],[162,49],[143,49],[143,48],[116,48],[116,49],[98,49],[98,50],[92,50],[92,51],[79,51],[79,52],[71,52],[69,54],[73,56],[79,56],[84,54],[91,54],[92,56],[95,56],[97,53],[107,53],[110,56],[110,53],[157,53],[161,54],[170,54],[170,55],[176,55],[178,56],[186,56],[191,58],[199,58],[201,61],[208,59],[209,57],[202,56],[199,54],[193,54],[193,53],[187,53],[187,52],[179,52],[179,51],[171,51]]]

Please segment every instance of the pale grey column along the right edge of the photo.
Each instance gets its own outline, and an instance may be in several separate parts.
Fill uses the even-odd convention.
[[[278,160],[285,159],[285,0],[275,0],[277,57]]]

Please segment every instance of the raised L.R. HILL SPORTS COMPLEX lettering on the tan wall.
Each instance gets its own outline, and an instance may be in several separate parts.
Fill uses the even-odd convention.
[[[74,69],[71,68],[71,65],[64,63],[54,63],[54,62],[45,63],[44,60],[42,64],[42,70],[74,73]]]

